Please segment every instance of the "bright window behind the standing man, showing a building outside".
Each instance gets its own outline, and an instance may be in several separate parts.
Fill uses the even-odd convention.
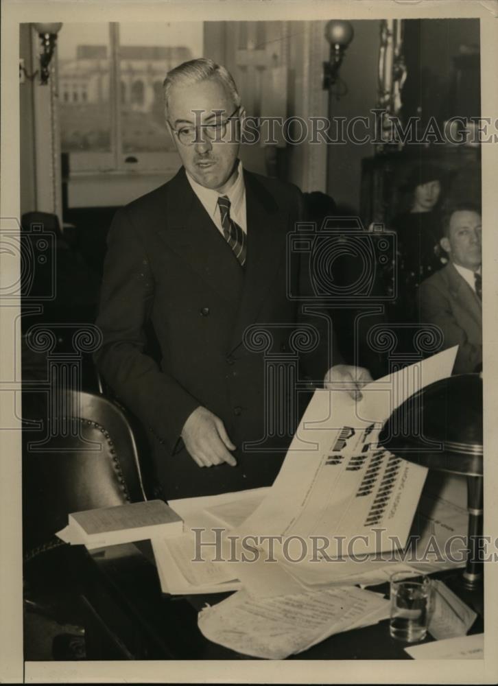
[[[202,56],[203,23],[64,23],[58,36],[62,152],[78,172],[178,167],[163,80]]]

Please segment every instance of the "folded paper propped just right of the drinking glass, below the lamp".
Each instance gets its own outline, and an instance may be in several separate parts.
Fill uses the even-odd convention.
[[[442,581],[433,580],[432,583],[434,611],[429,622],[429,633],[438,640],[465,636],[477,614]]]

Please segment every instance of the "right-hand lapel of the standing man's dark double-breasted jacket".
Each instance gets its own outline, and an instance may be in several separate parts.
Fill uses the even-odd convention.
[[[273,196],[250,172],[244,171],[247,208],[247,261],[239,314],[230,349],[242,341],[256,320],[285,255],[287,213],[278,212]]]

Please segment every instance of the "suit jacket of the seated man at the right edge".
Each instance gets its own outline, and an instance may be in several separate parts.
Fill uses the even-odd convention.
[[[454,374],[474,372],[482,364],[482,303],[449,263],[420,284],[420,322],[437,324],[444,348],[458,345]]]

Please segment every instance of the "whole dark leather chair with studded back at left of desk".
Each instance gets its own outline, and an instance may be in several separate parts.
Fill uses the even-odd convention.
[[[60,394],[57,405],[50,407],[39,390],[23,394],[24,608],[56,626],[84,626],[75,573],[84,549],[55,534],[70,512],[147,497],[137,440],[121,407],[76,391]],[[81,635],[56,639],[70,639],[73,650],[84,653]]]

